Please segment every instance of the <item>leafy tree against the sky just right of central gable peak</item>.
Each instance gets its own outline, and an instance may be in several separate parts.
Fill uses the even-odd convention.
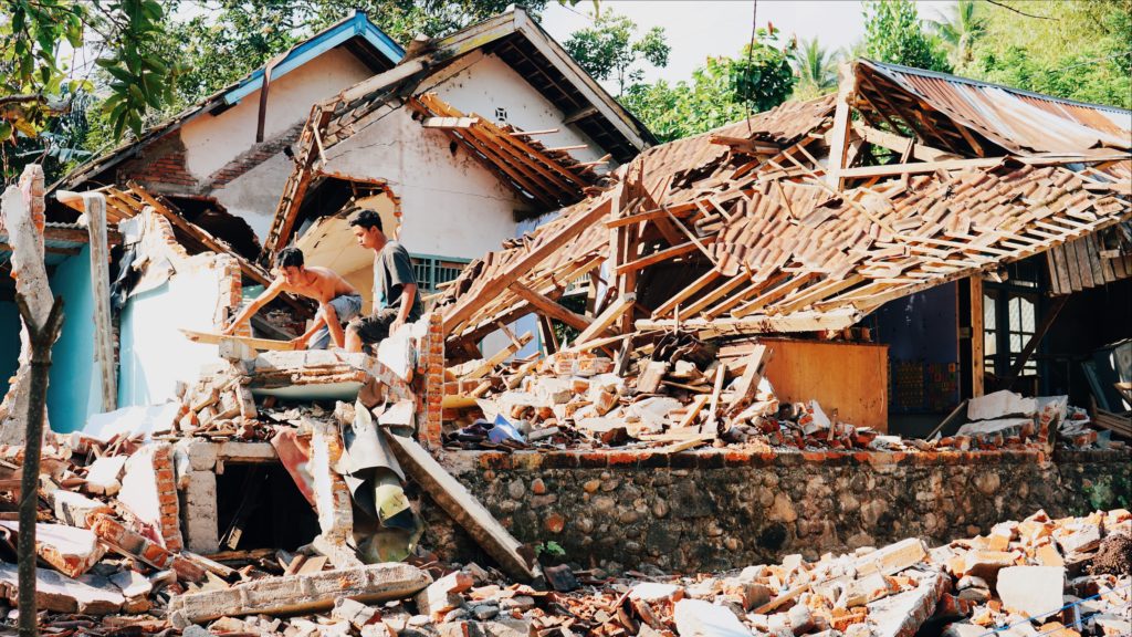
[[[640,84],[648,62],[654,67],[668,66],[671,46],[662,27],[649,29],[640,39],[636,23],[612,11],[597,14],[593,26],[574,32],[564,46],[586,73],[597,79],[616,79],[618,94]]]

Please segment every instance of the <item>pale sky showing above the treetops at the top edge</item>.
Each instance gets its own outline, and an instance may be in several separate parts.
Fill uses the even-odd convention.
[[[736,56],[751,41],[751,19],[755,3],[751,0],[600,0],[601,10],[628,16],[640,33],[653,26],[664,27],[672,48],[668,67],[645,68],[645,80],[678,82],[692,76],[709,57]],[[936,18],[952,5],[951,0],[920,0],[921,18]],[[593,3],[576,6],[547,3],[542,27],[559,42],[590,24]],[[861,3],[857,0],[758,0],[758,26],[767,20],[782,31],[783,42],[791,34],[799,40],[817,36],[826,49],[848,49],[865,36]],[[607,88],[612,86],[608,85]]]

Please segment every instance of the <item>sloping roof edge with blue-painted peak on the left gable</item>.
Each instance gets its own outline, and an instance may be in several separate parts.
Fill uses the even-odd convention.
[[[302,67],[321,53],[336,46],[346,48],[376,73],[392,68],[405,54],[404,49],[371,23],[363,11],[355,10],[349,17],[326,27],[286,51],[272,69],[272,79],[277,80],[280,77]],[[51,192],[55,188],[75,189],[91,179],[98,179],[106,170],[132,158],[151,142],[180,128],[187,121],[203,113],[220,114],[263,86],[264,69],[265,67],[257,68],[239,82],[230,84],[180,113],[153,126],[139,138],[123,142],[113,150],[80,164],[58,182],[51,185],[48,190]]]

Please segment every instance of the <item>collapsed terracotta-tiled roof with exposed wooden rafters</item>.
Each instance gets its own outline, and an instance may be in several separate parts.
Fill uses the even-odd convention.
[[[895,120],[918,114],[877,109],[883,100],[857,90],[872,85],[876,66],[846,69],[849,82],[835,99],[788,102],[749,124],[650,148],[624,167],[625,184],[614,192],[473,263],[441,300],[449,346],[461,351],[531,312],[564,320],[556,299],[565,284],[602,267],[607,296],[635,296],[629,306],[604,304],[621,312],[612,321],[600,309],[592,321],[577,316],[598,324],[590,337],[677,326],[702,337],[835,330],[889,300],[1132,218],[1127,144],[1080,124],[1088,118],[1062,122],[1075,134],[1060,136],[1061,147],[1014,144],[1018,153],[984,156],[997,147],[987,137],[961,146],[942,133],[906,136],[918,129]],[[993,95],[1011,107],[1020,99]],[[945,103],[917,97],[917,112],[943,118]],[[947,121],[951,139],[1003,129],[977,121],[972,133]],[[869,146],[900,159],[864,165]],[[684,286],[670,286],[671,296],[653,299],[637,318],[648,290],[638,282],[658,272]]]

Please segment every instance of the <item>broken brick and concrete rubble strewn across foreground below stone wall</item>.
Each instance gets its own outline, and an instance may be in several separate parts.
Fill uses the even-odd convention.
[[[65,509],[83,498],[55,493],[70,494]],[[324,570],[325,559],[286,551],[215,560],[182,552],[177,559],[188,570],[169,568],[151,562],[151,549],[110,541],[100,525],[120,518],[91,502],[94,532],[75,518],[75,526],[41,525],[40,555],[50,568],[38,570],[40,603],[51,634],[204,635],[206,627],[289,637],[880,637],[933,626],[950,637],[1115,637],[1132,630],[1132,513],[1123,509],[1056,520],[1038,511],[931,550],[908,538],[816,562],[787,555],[778,564],[681,578],[614,578],[557,566],[529,585],[428,554]],[[11,525],[3,528],[7,540]],[[15,598],[11,564],[0,564],[0,592]]]

